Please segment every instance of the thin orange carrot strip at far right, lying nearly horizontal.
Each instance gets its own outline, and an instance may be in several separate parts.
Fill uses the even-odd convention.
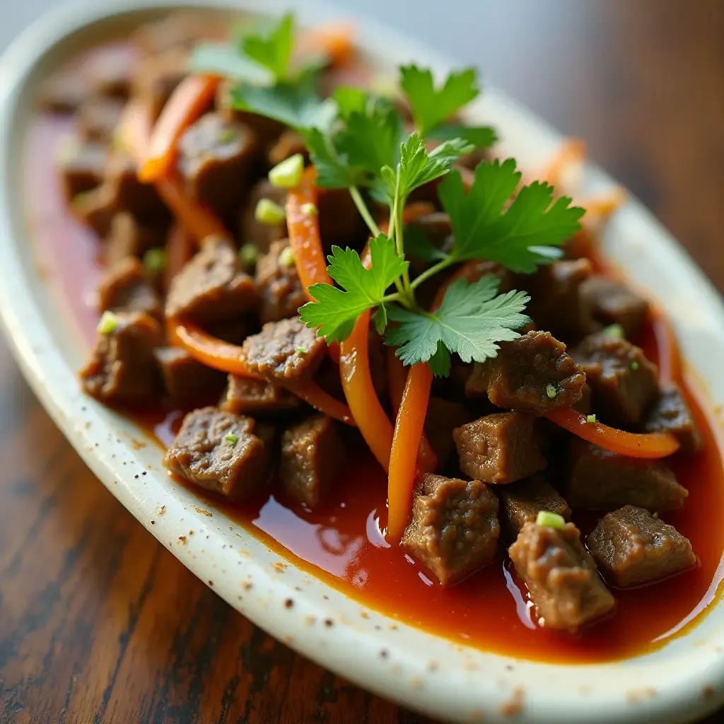
[[[589,422],[585,415],[571,408],[559,408],[547,413],[546,417],[594,445],[629,458],[666,458],[679,448],[678,440],[668,432],[638,434],[617,430],[599,422]]]

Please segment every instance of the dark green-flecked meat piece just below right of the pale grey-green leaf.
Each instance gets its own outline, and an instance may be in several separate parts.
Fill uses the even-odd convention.
[[[476,364],[468,397],[487,395],[498,407],[544,415],[581,400],[586,376],[550,332],[528,332],[501,342],[497,357]]]

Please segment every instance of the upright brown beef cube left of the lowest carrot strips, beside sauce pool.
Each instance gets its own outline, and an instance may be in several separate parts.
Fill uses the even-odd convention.
[[[313,415],[282,434],[279,477],[288,494],[316,508],[345,463],[345,446],[327,415]]]

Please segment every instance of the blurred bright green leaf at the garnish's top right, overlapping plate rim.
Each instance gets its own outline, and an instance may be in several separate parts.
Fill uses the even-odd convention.
[[[474,68],[450,73],[442,88],[435,90],[429,70],[421,70],[416,65],[400,67],[400,86],[423,136],[476,98],[480,93],[477,84],[478,74]]]

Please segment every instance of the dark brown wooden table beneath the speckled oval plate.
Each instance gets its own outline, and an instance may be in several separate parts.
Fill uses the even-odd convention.
[[[586,138],[724,290],[724,4],[544,5],[544,25],[508,9],[514,24],[480,28],[487,77]],[[186,571],[93,478],[4,345],[0,395],[0,722],[424,721]]]

